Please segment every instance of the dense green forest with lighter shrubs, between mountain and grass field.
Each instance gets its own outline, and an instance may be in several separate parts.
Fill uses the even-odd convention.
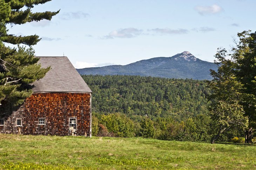
[[[210,141],[207,81],[128,75],[82,75],[93,91],[93,135]],[[243,133],[223,133],[230,141]],[[239,138],[237,140],[241,140]]]

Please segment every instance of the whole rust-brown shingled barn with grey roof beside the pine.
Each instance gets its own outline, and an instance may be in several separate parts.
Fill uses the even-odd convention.
[[[51,67],[22,105],[0,105],[0,133],[92,136],[92,91],[67,57],[39,57]]]

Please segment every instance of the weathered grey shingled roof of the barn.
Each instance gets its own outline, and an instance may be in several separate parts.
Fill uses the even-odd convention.
[[[76,71],[67,57],[39,57],[41,67],[51,67],[45,77],[32,83],[33,92],[73,92],[91,93],[80,74]]]

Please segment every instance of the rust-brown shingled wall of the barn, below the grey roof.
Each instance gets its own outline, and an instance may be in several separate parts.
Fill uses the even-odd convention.
[[[77,135],[90,135],[91,93],[34,93],[19,107],[2,102],[0,133],[18,134],[16,119],[22,119],[21,134],[69,135],[69,118],[76,118]],[[39,125],[45,118],[45,125]]]

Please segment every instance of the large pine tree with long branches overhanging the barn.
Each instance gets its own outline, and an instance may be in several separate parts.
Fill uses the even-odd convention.
[[[8,34],[7,25],[24,24],[26,22],[51,20],[57,12],[33,13],[34,5],[50,0],[0,0],[0,102],[4,99],[18,105],[32,94],[30,83],[41,79],[50,68],[41,68],[36,64],[32,47],[39,42],[38,35],[15,36]],[[16,44],[11,48],[5,43]]]

